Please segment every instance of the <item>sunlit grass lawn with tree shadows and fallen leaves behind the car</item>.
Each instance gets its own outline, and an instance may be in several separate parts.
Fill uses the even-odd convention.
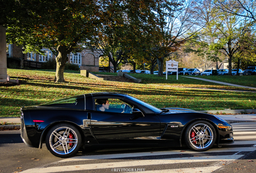
[[[8,69],[8,75],[11,78],[18,77],[21,84],[0,87],[0,117],[19,117],[22,106],[39,105],[64,97],[105,91],[127,93],[159,108],[180,107],[197,111],[256,109],[256,93],[205,90],[202,88],[237,88],[181,76],[178,80],[176,76],[168,76],[166,80],[165,76],[132,74],[142,78],[142,83],[136,84],[95,80],[73,73],[64,74],[66,83],[54,83],[55,72],[39,70]],[[237,77],[247,77],[248,81],[253,81],[256,76]]]

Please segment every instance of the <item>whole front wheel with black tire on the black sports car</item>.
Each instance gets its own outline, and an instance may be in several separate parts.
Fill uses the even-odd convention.
[[[194,151],[206,151],[213,147],[216,141],[216,131],[207,121],[195,121],[185,131],[186,145]]]

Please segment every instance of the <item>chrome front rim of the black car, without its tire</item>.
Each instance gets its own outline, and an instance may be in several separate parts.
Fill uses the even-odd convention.
[[[196,124],[189,131],[189,141],[197,149],[204,149],[213,142],[213,131],[206,124]]]

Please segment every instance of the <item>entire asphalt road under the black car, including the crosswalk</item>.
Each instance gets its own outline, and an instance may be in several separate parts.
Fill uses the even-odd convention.
[[[235,143],[205,152],[188,148],[89,148],[61,159],[27,147],[20,131],[0,131],[1,173],[242,173],[256,172],[256,123],[233,123]],[[35,169],[37,168],[37,169]]]

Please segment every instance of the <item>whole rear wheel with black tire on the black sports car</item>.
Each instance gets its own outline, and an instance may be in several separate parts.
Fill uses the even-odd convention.
[[[82,137],[76,127],[68,123],[55,125],[47,133],[45,145],[57,157],[70,157],[77,153]]]

